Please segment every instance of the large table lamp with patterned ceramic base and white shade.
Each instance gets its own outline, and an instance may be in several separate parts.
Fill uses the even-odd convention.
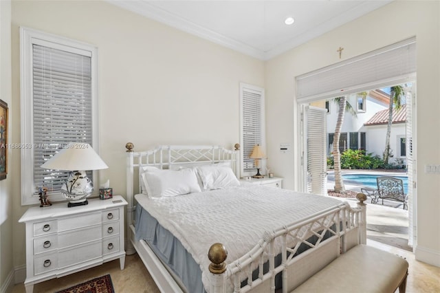
[[[94,191],[94,184],[85,171],[107,169],[109,166],[90,144],[72,142],[41,165],[41,168],[70,171],[61,187],[61,193],[69,201],[67,206],[70,208],[88,204],[87,197]]]

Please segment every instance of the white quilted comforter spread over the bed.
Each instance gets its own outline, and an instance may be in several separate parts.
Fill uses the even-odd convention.
[[[206,290],[207,254],[213,243],[223,243],[228,250],[226,262],[231,262],[251,250],[265,231],[341,203],[331,197],[254,184],[176,197],[148,199],[141,194],[135,198],[199,263]]]

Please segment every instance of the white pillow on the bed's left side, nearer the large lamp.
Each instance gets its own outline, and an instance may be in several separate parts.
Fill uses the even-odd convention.
[[[193,169],[180,171],[151,169],[142,173],[149,197],[173,197],[201,191]]]

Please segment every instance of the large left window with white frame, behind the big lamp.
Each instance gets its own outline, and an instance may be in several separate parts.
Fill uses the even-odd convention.
[[[59,190],[68,173],[41,165],[69,142],[98,151],[96,48],[27,28],[20,33],[21,204],[38,203],[40,186],[56,202],[64,200]]]

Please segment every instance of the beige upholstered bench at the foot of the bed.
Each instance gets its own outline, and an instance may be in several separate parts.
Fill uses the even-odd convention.
[[[383,292],[406,290],[408,262],[395,254],[358,245],[296,287],[298,292]]]

